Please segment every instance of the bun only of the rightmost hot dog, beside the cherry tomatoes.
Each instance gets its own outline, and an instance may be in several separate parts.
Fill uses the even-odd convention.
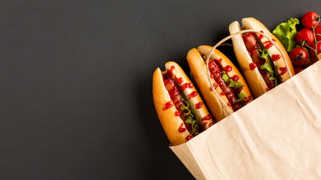
[[[280,43],[280,41],[262,24],[262,22],[258,21],[253,17],[247,17],[242,19],[242,25],[243,27],[241,27],[237,21],[233,21],[229,26],[230,34],[232,35],[242,30],[255,30],[262,32],[265,35],[263,36],[256,34],[259,37],[258,39],[260,41],[260,44],[263,44],[263,46],[266,44],[270,45],[267,49],[270,58],[274,58],[272,62],[276,69],[275,72],[278,77],[278,83],[282,83],[288,80],[291,76],[295,74],[291,60],[282,43]],[[259,67],[255,68],[254,70],[253,68],[250,68],[249,64],[253,63],[253,61],[245,46],[242,35],[235,35],[231,39],[233,42],[236,59],[238,61],[241,71],[244,74],[244,77],[248,82],[248,85],[250,86],[253,96],[257,98],[263,95],[264,93],[268,92],[269,88],[258,71]],[[272,39],[275,45],[273,45],[269,41],[269,39]],[[278,58],[275,60],[275,57]],[[288,71],[288,69],[285,69],[286,67],[288,67],[290,71]]]

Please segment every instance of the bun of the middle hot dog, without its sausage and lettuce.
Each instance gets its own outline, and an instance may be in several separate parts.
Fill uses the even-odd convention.
[[[217,82],[215,82],[214,78],[211,78],[211,83],[214,84],[213,86],[215,87],[216,93],[212,91],[212,86],[208,80],[208,71],[205,62],[207,55],[211,50],[212,47],[206,45],[199,46],[197,49],[193,48],[187,54],[187,61],[193,79],[200,93],[202,94],[208,108],[210,109],[215,120],[220,121],[228,115],[232,114],[234,110],[230,105],[228,98],[225,96],[225,93],[220,87],[218,87],[219,85],[217,84]],[[249,97],[248,102],[251,102],[253,98],[249,91],[247,83],[244,80],[242,74],[240,74],[235,65],[230,61],[230,59],[217,49],[214,50],[214,53],[212,54],[210,59],[221,59],[220,66],[222,66],[223,68],[227,66],[230,67],[231,71],[227,71],[228,76],[238,77],[238,81],[244,84],[242,93],[244,93],[246,97]]]

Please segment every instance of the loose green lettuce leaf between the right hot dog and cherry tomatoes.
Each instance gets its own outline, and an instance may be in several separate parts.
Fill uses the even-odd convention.
[[[296,28],[299,24],[297,18],[290,18],[287,22],[277,25],[272,34],[283,44],[284,48],[290,52],[296,44]]]

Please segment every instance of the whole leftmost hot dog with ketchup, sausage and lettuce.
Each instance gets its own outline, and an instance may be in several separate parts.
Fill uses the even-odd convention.
[[[185,143],[215,122],[195,86],[175,62],[157,68],[153,74],[156,113],[171,145]]]

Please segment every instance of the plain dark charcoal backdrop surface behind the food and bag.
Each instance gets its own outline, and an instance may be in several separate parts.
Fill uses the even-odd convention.
[[[193,179],[158,121],[153,71],[169,60],[188,71],[187,52],[234,20],[273,30],[319,5],[1,1],[0,178]]]

